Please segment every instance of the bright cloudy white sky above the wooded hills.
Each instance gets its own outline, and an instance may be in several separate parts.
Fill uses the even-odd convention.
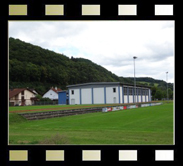
[[[112,73],[174,83],[174,21],[10,21],[9,37],[82,57]]]

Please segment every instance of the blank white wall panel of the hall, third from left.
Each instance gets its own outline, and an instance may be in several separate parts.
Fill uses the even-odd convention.
[[[104,88],[93,88],[94,104],[104,104]]]

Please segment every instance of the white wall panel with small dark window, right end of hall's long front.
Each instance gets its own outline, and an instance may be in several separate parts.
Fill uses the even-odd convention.
[[[116,92],[113,92],[113,88],[116,88]],[[106,104],[119,103],[118,87],[106,87]]]

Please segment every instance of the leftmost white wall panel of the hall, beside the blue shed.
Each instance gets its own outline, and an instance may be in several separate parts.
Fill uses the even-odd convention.
[[[74,94],[72,94],[72,90],[74,91]],[[73,104],[80,104],[80,90],[79,89],[70,89],[69,90],[69,103],[71,105]]]

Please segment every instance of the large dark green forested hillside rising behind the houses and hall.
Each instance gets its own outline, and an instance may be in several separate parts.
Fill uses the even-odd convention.
[[[19,39],[9,39],[9,87],[29,87],[43,94],[52,86],[86,82],[124,82],[100,65],[83,58],[68,58]]]

